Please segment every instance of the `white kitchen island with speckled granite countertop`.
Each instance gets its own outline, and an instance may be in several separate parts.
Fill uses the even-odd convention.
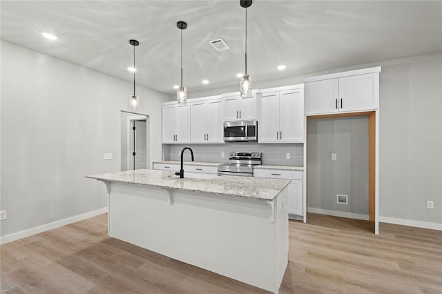
[[[288,261],[289,180],[180,179],[165,170],[88,177],[106,184],[110,237],[278,293]]]

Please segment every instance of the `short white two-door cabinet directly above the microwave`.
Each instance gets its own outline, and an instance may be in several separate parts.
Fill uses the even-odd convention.
[[[258,92],[252,91],[251,97],[240,97],[240,92],[222,95],[224,100],[224,121],[256,120],[258,117]]]

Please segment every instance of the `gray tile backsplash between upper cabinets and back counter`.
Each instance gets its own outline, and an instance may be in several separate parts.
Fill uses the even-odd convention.
[[[229,161],[229,153],[233,151],[260,151],[262,164],[282,166],[304,166],[304,144],[258,144],[258,143],[226,143],[226,144],[163,144],[164,160],[180,160],[182,148],[190,147],[193,150],[195,161],[220,162]],[[221,153],[224,152],[224,157]],[[290,159],[286,159],[290,153]],[[191,153],[184,152],[184,160],[191,160]]]

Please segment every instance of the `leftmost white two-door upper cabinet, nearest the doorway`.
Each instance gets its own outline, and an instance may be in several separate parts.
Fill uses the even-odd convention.
[[[163,144],[189,143],[191,139],[189,104],[164,104],[162,108]]]

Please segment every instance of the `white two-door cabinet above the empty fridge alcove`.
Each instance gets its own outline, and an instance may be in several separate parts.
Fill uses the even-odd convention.
[[[305,114],[378,109],[379,72],[381,67],[305,79]]]

